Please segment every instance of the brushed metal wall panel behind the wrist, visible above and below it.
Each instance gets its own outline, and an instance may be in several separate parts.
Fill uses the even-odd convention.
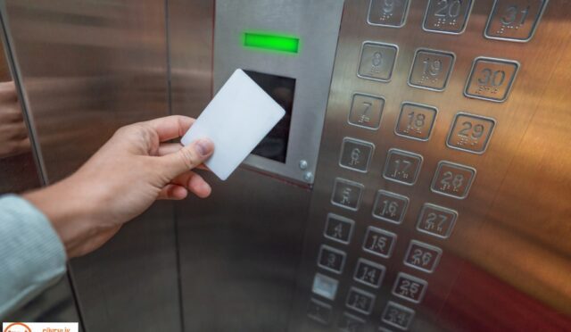
[[[12,51],[46,178],[76,170],[115,129],[168,114],[163,1],[6,1]],[[180,330],[173,206],[70,261],[89,331]],[[144,314],[141,314],[144,313]]]

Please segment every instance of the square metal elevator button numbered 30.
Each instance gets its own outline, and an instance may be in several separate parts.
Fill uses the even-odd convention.
[[[519,63],[510,60],[478,57],[472,63],[472,71],[464,95],[496,103],[508,99],[516,79]]]

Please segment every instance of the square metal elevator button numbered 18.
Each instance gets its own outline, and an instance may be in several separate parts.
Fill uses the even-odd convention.
[[[432,106],[402,103],[401,115],[394,129],[395,134],[427,141],[434,127],[436,112],[438,111]]]

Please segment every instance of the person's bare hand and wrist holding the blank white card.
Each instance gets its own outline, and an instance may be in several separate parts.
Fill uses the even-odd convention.
[[[157,199],[211,194],[192,169],[211,156],[212,142],[164,143],[183,136],[193,123],[170,116],[123,127],[69,178],[24,198],[53,223],[68,257],[90,253]]]

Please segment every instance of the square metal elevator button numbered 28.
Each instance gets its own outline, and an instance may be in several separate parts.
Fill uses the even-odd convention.
[[[476,170],[453,162],[438,162],[430,190],[458,199],[468,196]]]

